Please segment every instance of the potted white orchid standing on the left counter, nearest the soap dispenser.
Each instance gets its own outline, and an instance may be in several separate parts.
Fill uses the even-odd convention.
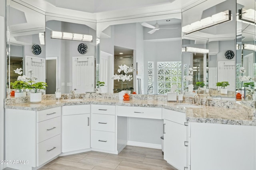
[[[41,89],[45,90],[47,84],[45,82],[35,82],[36,77],[32,77],[32,70],[28,71],[30,73],[30,78],[28,81],[28,89],[32,89],[30,92],[30,103],[39,103],[42,101]]]

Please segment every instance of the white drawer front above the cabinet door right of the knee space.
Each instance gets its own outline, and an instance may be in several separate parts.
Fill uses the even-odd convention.
[[[163,119],[184,125],[184,122],[186,122],[186,113],[163,109]]]

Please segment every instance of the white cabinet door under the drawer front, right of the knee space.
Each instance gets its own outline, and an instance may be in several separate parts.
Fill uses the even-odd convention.
[[[186,167],[186,126],[164,119],[164,160],[183,170]]]

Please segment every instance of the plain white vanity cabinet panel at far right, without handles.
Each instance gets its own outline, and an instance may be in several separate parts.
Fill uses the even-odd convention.
[[[191,170],[255,170],[254,128],[191,123]]]

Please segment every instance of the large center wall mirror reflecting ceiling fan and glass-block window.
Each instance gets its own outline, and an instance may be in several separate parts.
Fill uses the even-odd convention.
[[[132,87],[138,94],[181,89],[181,13],[97,23],[99,80],[104,91]],[[120,65],[132,66],[133,81],[112,80]]]

